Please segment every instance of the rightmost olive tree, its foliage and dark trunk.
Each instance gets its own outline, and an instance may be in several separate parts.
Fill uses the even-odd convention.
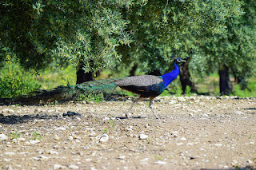
[[[256,71],[256,2],[242,1],[242,9],[244,12],[241,16],[227,18],[226,34],[214,35],[201,47],[202,53],[195,56],[193,61],[198,72],[218,70],[222,95],[232,92],[230,73],[244,81]]]

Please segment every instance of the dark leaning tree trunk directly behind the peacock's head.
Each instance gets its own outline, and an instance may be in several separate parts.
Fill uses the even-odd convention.
[[[186,85],[190,86],[190,90],[193,93],[197,93],[197,89],[194,85],[194,82],[190,81],[190,57],[187,58],[186,63],[179,67],[179,78],[182,83],[182,91],[185,93]]]

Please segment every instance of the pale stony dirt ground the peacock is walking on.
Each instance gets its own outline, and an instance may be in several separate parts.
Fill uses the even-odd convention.
[[[2,169],[256,169],[256,100],[0,106]]]

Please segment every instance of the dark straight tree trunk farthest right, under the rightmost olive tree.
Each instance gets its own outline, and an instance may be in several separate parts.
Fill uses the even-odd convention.
[[[218,71],[219,74],[219,91],[221,95],[229,95],[231,93],[231,84],[230,84],[230,73],[229,68],[224,65],[223,69]]]

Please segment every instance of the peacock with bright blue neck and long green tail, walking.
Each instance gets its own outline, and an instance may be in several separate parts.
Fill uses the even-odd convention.
[[[174,79],[178,77],[178,67],[182,62],[185,61],[180,57],[176,58],[174,60],[174,69],[170,73],[163,74],[162,76],[143,75],[86,81],[78,85],[58,86],[52,90],[41,90],[36,92],[37,94],[32,97],[22,97],[18,98],[16,101],[65,101],[78,97],[81,94],[90,95],[96,93],[111,93],[114,89],[120,87],[121,89],[140,95],[140,97],[132,103],[130,109],[128,109],[126,118],[129,118],[130,110],[134,105],[146,98],[150,98],[149,107],[154,113],[154,109],[152,109],[154,98],[160,95],[166,87],[170,85],[170,82],[174,81]],[[154,116],[158,119],[158,116],[155,113]]]

